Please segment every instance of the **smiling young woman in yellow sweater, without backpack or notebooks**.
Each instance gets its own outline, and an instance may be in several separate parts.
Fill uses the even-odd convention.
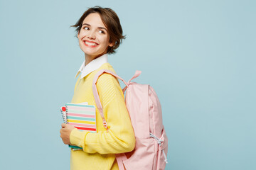
[[[114,72],[107,62],[107,54],[114,53],[124,39],[122,27],[112,9],[100,6],[85,11],[73,27],[77,30],[80,48],[85,52],[85,62],[78,71],[80,77],[75,84],[71,103],[87,102],[96,106],[92,79],[101,69]],[[107,130],[97,109],[97,133],[81,132],[64,123],[61,125],[60,137],[64,144],[82,147],[82,150],[71,150],[70,166],[73,170],[118,169],[115,154],[130,152],[135,146],[132,123],[119,82],[105,73],[99,77],[96,85],[107,120]]]

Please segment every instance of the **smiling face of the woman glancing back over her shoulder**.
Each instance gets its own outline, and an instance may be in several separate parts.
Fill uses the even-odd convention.
[[[110,35],[98,13],[90,13],[82,22],[82,28],[78,34],[79,46],[85,57],[90,60],[107,53],[107,47],[112,47]]]

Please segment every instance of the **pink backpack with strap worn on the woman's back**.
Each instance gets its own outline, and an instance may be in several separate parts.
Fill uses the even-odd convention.
[[[97,72],[92,83],[92,91],[105,128],[107,128],[107,122],[103,115],[96,87],[97,79],[103,73],[112,74],[126,85],[123,89],[123,92],[126,91],[125,103],[136,137],[136,146],[132,152],[116,154],[119,169],[164,169],[167,163],[168,140],[162,121],[161,105],[156,92],[149,85],[131,82],[132,79],[139,77],[141,71],[137,71],[128,82],[107,69]]]

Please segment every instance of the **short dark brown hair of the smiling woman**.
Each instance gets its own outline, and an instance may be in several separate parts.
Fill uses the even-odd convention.
[[[102,22],[107,27],[107,31],[110,34],[110,42],[114,42],[114,45],[112,47],[110,46],[107,47],[107,53],[108,54],[115,53],[116,52],[115,50],[121,44],[122,39],[125,39],[125,35],[122,35],[122,26],[120,24],[117,13],[115,13],[111,8],[102,8],[100,6],[88,8],[87,11],[85,11],[82,14],[78,22],[75,23],[75,25],[70,27],[75,27],[76,33],[79,34],[82,28],[82,22],[90,13],[100,14],[100,18],[102,19]]]

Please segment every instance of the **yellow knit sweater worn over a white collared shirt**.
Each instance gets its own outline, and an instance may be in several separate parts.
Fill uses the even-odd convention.
[[[92,80],[100,69],[114,69],[109,63],[80,79],[75,84],[72,103],[88,102],[96,106],[92,94]],[[135,147],[134,131],[129,113],[124,103],[124,94],[119,82],[110,74],[102,74],[97,81],[97,90],[102,103],[108,130],[102,124],[100,112],[96,109],[97,133],[72,130],[70,142],[83,150],[71,150],[70,168],[72,170],[118,169],[115,155],[130,152]]]

